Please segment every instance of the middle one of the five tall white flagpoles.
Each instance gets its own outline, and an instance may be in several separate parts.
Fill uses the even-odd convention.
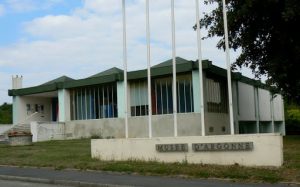
[[[173,117],[174,136],[177,137],[177,83],[176,83],[176,43],[175,43],[175,15],[174,0],[171,0],[171,22],[172,22],[172,64],[173,64]]]

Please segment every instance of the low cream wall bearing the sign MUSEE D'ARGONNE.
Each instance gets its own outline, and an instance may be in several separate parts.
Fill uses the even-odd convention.
[[[92,158],[244,166],[281,166],[279,134],[93,139]]]

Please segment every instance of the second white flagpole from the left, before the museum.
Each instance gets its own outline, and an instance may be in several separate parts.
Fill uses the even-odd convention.
[[[146,0],[146,38],[147,38],[147,82],[148,82],[148,130],[152,138],[152,100],[151,100],[151,53],[150,53],[150,21],[149,0]]]

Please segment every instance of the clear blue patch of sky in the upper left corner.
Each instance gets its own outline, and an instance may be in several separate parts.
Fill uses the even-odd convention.
[[[2,7],[2,11],[0,11],[0,46],[2,47],[17,43],[22,39],[31,39],[32,36],[24,32],[23,23],[49,14],[68,14],[74,8],[82,6],[83,1],[0,0],[0,5]]]

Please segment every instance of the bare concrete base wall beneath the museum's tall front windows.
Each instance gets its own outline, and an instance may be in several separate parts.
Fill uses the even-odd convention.
[[[200,136],[201,116],[199,113],[177,114],[178,136]],[[67,139],[88,138],[125,138],[124,118],[105,118],[93,120],[74,120],[65,122]],[[130,138],[147,138],[149,136],[148,116],[128,118]],[[173,115],[152,116],[153,137],[170,137],[174,135]]]

